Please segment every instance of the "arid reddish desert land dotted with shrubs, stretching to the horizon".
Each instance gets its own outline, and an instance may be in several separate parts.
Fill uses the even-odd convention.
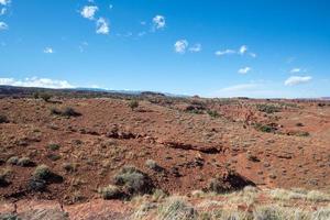
[[[0,213],[50,206],[69,217],[44,219],[129,219],[155,191],[186,196],[199,209],[206,195],[226,207],[227,196],[215,193],[242,191],[233,207],[246,211],[251,197],[268,205],[277,188],[306,197],[288,206],[330,209],[329,101],[43,95],[1,96]],[[307,190],[324,198],[308,199]]]

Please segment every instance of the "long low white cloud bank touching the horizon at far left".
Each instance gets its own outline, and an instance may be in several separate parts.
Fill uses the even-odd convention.
[[[16,80],[14,78],[0,78],[0,85],[7,86],[20,86],[20,87],[41,87],[41,88],[54,88],[54,89],[63,89],[63,88],[75,88],[66,80],[54,80],[48,78],[25,78],[23,80]]]

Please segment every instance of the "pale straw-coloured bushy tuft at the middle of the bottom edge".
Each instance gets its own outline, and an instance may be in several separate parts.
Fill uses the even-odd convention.
[[[158,219],[197,220],[198,213],[182,198],[169,198],[158,210]]]

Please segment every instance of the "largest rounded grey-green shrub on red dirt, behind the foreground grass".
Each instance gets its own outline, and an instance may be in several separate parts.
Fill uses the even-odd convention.
[[[154,186],[150,177],[134,166],[124,166],[116,176],[114,184],[131,195],[150,194]]]

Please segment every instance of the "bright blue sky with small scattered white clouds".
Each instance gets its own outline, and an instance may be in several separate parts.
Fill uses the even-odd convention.
[[[328,0],[0,0],[0,84],[330,96]]]

